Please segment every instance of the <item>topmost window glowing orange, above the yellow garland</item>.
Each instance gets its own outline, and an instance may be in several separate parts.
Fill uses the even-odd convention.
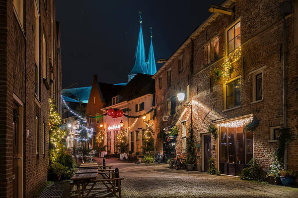
[[[230,53],[241,45],[240,22],[227,31],[227,52]]]

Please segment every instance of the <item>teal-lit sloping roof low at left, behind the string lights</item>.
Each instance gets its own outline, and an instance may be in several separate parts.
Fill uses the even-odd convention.
[[[79,87],[72,89],[64,89],[61,95],[70,99],[78,100],[83,103],[88,103],[89,95],[92,87]]]

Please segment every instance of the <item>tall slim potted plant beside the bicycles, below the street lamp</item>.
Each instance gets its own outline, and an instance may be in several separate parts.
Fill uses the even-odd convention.
[[[188,129],[189,136],[186,138],[186,170],[190,171],[194,169],[196,161],[196,146],[193,138],[193,131]]]

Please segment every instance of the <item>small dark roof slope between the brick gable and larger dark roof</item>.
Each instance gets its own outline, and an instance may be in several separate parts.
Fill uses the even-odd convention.
[[[121,85],[113,85],[102,82],[98,82],[97,85],[103,102],[109,101],[112,97],[117,96],[117,93],[124,88],[124,86]]]

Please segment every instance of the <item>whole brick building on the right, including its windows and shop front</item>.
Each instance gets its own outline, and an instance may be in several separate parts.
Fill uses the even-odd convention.
[[[297,171],[298,1],[226,0],[209,11],[211,16],[153,76],[156,132],[167,134],[176,125],[175,150],[186,157],[187,128],[192,127],[197,170],[207,171],[213,157],[222,173],[238,175],[252,157],[268,170],[278,130],[288,127],[294,136],[286,165]],[[223,77],[215,80],[219,71]],[[180,92],[192,108],[179,105]],[[253,117],[259,126],[245,132]],[[211,124],[219,130],[217,139],[208,132]],[[157,145],[162,151],[162,140]]]

